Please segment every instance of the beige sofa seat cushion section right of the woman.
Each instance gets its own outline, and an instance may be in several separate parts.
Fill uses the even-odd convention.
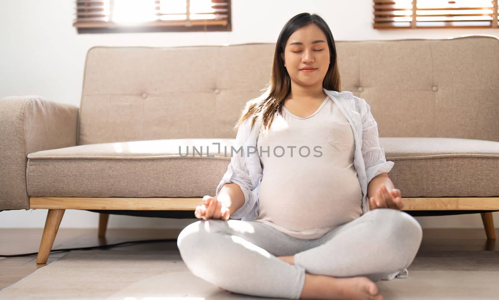
[[[389,177],[402,197],[499,196],[499,142],[380,138]]]

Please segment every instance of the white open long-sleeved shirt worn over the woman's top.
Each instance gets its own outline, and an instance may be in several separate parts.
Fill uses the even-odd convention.
[[[383,172],[388,173],[395,163],[386,161],[385,151],[379,146],[378,124],[371,114],[369,104],[349,91],[323,90],[336,103],[350,123],[354,133],[354,166],[362,189],[360,205],[364,214],[369,211],[367,199],[369,181]],[[229,182],[234,182],[241,187],[245,195],[245,203],[237,211],[232,212],[231,218],[241,219],[242,221],[253,221],[258,215],[258,190],[262,178],[260,157],[258,151],[255,151],[259,135],[259,119],[255,121],[252,130],[250,130],[250,126],[251,116],[239,127],[233,145],[235,151],[242,148],[243,155],[238,152],[232,156],[227,172],[222,177],[215,192],[215,195],[218,195],[222,186]],[[253,149],[251,151],[253,153],[249,153],[249,148]],[[391,274],[387,280],[392,280],[395,277],[405,278],[407,275],[408,271],[404,269]]]

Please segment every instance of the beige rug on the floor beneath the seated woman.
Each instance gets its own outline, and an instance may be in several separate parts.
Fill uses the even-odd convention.
[[[379,281],[388,299],[499,299],[498,251],[420,252],[409,277]],[[178,251],[71,251],[0,291],[0,299],[267,299],[195,277]],[[268,298],[275,299],[275,298]]]

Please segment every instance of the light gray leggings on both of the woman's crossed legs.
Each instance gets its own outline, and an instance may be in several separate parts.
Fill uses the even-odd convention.
[[[259,222],[200,220],[182,230],[177,246],[189,271],[211,284],[239,294],[299,299],[305,272],[376,282],[409,267],[422,238],[414,217],[377,208],[313,240]],[[277,258],[290,255],[295,265]]]

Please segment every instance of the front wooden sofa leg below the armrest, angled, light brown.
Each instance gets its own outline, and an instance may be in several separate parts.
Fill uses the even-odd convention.
[[[41,236],[40,248],[38,249],[38,256],[36,257],[37,264],[45,264],[47,262],[50,250],[52,250],[52,246],[54,245],[55,235],[57,234],[57,230],[59,230],[59,225],[61,224],[64,211],[65,209],[48,210],[45,227],[43,228],[43,234]]]

